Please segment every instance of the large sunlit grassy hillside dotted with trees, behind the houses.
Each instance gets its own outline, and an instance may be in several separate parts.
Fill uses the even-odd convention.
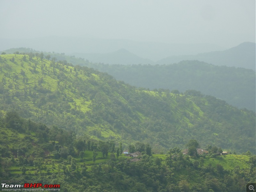
[[[41,57],[41,58],[40,58]],[[138,90],[90,68],[33,55],[0,56],[0,109],[95,140],[148,142],[166,151],[190,139],[255,152],[255,113],[197,91]],[[19,129],[19,125],[15,125]]]

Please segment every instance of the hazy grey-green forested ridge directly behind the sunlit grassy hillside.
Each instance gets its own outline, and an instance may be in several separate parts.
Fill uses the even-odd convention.
[[[231,49],[232,50],[232,49]],[[38,53],[29,48],[12,48],[5,53]],[[43,52],[45,58],[60,60],[61,63],[94,68],[107,72],[117,80],[137,87],[169,89],[185,92],[193,89],[212,95],[238,108],[255,112],[255,72],[250,69],[214,66],[200,61],[182,61],[170,65],[108,65],[91,63],[83,58],[68,56],[65,53]]]

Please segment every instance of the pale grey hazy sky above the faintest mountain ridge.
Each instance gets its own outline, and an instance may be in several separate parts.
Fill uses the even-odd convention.
[[[0,38],[255,42],[255,0],[0,0]]]

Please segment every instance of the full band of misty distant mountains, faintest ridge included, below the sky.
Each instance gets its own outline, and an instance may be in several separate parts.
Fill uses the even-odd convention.
[[[255,71],[256,60],[256,44],[252,42],[244,42],[225,50],[214,44],[165,44],[123,39],[56,36],[0,39],[0,50],[13,47],[31,47],[40,51],[66,53],[90,62],[110,65],[162,65],[178,63],[182,60],[199,60],[213,65],[249,68]]]

